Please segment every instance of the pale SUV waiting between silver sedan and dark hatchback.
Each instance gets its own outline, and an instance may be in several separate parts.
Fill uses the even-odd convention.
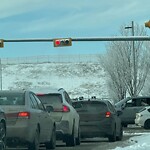
[[[63,88],[42,88],[32,91],[45,106],[51,105],[54,108],[51,116],[56,122],[57,140],[63,140],[66,146],[80,145],[80,117],[72,106],[68,93]]]

